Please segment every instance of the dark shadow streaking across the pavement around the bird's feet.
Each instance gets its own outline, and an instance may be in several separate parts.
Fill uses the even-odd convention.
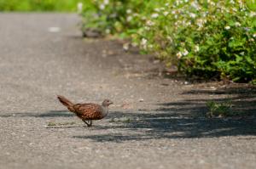
[[[93,127],[84,130],[93,132],[86,135],[73,135],[75,139],[90,139],[96,142],[125,142],[148,139],[175,138],[218,138],[226,136],[256,137],[256,90],[231,88],[217,91],[193,90],[184,95],[211,93],[212,95],[236,93],[230,96],[234,110],[242,111],[245,117],[239,118],[207,118],[206,103],[209,100],[223,102],[223,99],[183,99],[178,102],[157,104],[154,110],[118,110],[111,111],[102,122],[94,123]],[[186,98],[186,97],[184,97]],[[71,117],[73,113],[67,110],[53,110],[44,113],[20,113],[17,117],[57,118]],[[8,115],[0,115],[9,117]],[[115,120],[113,120],[115,119]],[[81,127],[83,127],[81,125]],[[75,127],[70,127],[75,128]]]

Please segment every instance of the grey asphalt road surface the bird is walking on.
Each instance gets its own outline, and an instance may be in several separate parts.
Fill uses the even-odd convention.
[[[0,14],[0,168],[256,168],[255,118],[207,119],[209,99],[255,112],[255,90],[158,76],[76,14]],[[112,99],[84,127],[58,103]]]

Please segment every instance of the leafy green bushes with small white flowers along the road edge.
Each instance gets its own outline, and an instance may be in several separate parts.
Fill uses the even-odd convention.
[[[254,0],[88,2],[84,27],[130,37],[189,76],[256,82]]]

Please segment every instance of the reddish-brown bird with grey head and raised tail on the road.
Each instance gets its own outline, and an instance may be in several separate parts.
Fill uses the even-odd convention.
[[[84,104],[73,104],[71,101],[66,99],[64,96],[57,95],[57,99],[61,104],[65,105],[67,109],[77,115],[87,127],[92,126],[93,120],[101,120],[108,115],[108,106],[113,104],[109,99],[104,99],[102,104],[84,103]]]

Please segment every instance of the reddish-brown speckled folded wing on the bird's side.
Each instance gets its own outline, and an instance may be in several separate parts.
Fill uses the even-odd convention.
[[[82,119],[96,120],[102,118],[102,109],[99,104],[75,104],[73,109]]]

